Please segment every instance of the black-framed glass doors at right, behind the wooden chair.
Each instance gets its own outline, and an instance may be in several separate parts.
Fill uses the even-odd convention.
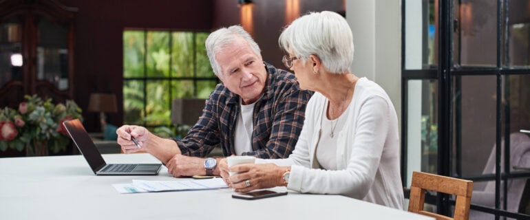
[[[528,8],[403,1],[403,183],[412,170],[473,180],[469,219],[530,217]],[[448,214],[454,200],[435,199]]]

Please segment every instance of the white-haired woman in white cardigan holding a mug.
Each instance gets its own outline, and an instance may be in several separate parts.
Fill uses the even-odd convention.
[[[282,32],[279,45],[300,87],[315,95],[293,154],[230,168],[221,162],[229,186],[236,192],[287,186],[401,209],[396,111],[379,85],[350,73],[353,36],[346,20],[335,12],[307,14]]]

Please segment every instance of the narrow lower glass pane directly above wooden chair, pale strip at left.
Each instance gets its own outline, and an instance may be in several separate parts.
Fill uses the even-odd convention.
[[[412,171],[437,172],[438,80],[407,81],[407,186]]]

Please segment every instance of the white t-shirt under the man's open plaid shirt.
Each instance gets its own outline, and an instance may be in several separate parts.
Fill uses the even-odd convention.
[[[255,104],[256,102],[246,105],[240,104],[241,111],[237,114],[234,134],[234,150],[236,155],[252,151],[252,131],[254,129],[252,117],[254,115]]]

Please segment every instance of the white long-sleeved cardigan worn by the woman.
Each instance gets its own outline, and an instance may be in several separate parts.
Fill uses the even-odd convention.
[[[337,170],[315,168],[320,120],[328,99],[315,93],[295,151],[287,159],[259,159],[291,166],[287,188],[299,192],[340,194],[403,209],[399,172],[399,130],[396,111],[385,91],[360,78],[355,85],[346,124],[337,139]]]

